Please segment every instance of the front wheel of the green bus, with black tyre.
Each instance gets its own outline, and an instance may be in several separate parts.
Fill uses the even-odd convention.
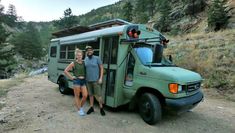
[[[151,93],[143,94],[139,101],[139,113],[142,119],[150,125],[160,121],[162,109],[158,98]]]

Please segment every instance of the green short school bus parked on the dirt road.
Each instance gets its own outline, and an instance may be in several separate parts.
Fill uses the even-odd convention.
[[[85,50],[87,45],[103,61],[106,106],[138,108],[146,123],[155,124],[163,111],[185,112],[203,100],[200,74],[163,55],[167,40],[160,32],[131,23],[51,40],[48,79],[59,85],[62,94],[73,85],[63,73],[65,67],[74,60],[75,48]]]

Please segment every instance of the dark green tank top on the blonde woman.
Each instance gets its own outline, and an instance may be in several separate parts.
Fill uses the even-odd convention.
[[[79,76],[85,77],[85,64],[84,64],[84,62],[82,62],[82,64],[80,64],[77,61],[74,61],[73,74],[76,77],[79,77]]]

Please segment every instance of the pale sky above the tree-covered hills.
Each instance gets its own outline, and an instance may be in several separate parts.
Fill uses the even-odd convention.
[[[60,19],[71,8],[73,15],[85,14],[92,9],[114,4],[119,0],[0,0],[8,10],[9,4],[16,7],[17,16],[24,21],[51,21]]]

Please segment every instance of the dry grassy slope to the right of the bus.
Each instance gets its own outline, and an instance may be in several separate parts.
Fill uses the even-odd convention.
[[[200,73],[205,88],[235,93],[235,29],[170,37],[166,54],[175,64]]]

